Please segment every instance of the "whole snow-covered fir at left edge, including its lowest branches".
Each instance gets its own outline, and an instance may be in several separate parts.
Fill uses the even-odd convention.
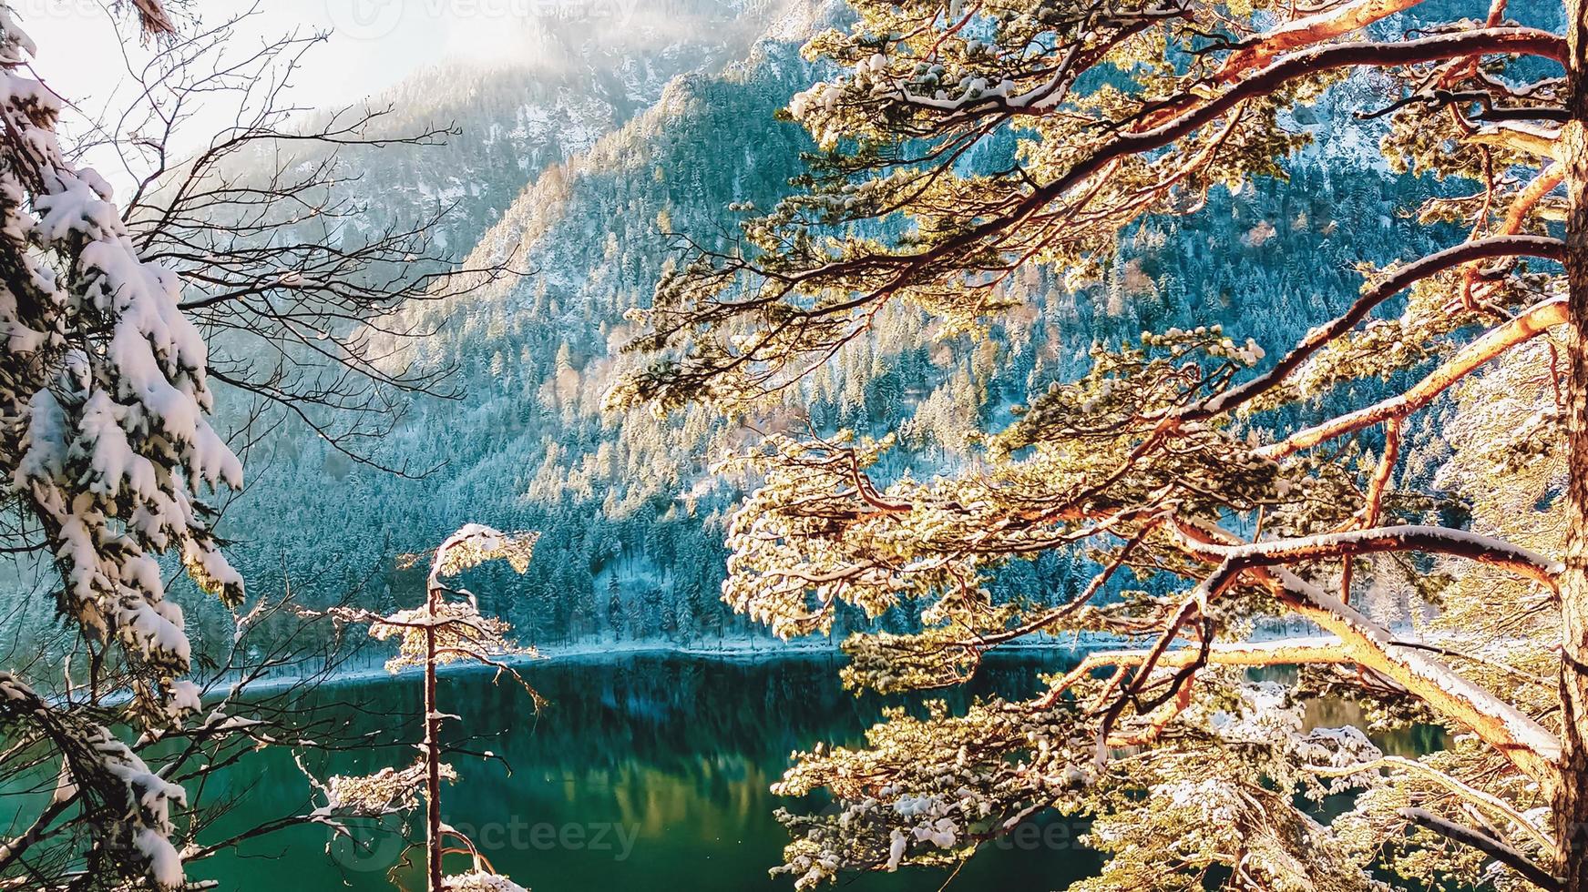
[[[173,27],[157,2],[137,8],[146,32]],[[94,660],[125,667],[124,717],[159,733],[200,709],[159,556],[178,556],[200,587],[240,603],[243,579],[221,557],[200,497],[241,486],[241,463],[206,419],[206,348],[176,306],[176,276],[140,257],[110,186],[65,160],[60,98],[29,76],[33,51],[0,6],[0,462],[24,529],[54,557],[60,614]],[[8,743],[59,752],[60,782],[38,829],[68,808],[89,814],[86,876],[181,886],[173,811],[186,792],[146,765],[92,698],[44,698],[0,670],[0,717]],[[0,844],[0,868],[35,841]]]

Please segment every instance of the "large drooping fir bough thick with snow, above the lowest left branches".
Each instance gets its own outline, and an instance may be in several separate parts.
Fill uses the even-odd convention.
[[[140,711],[168,719],[189,644],[156,554],[178,554],[200,587],[237,603],[243,579],[197,497],[241,486],[243,470],[205,417],[208,349],[178,308],[179,279],[138,256],[110,186],[64,159],[60,100],[24,75],[32,49],[6,8],[0,249],[14,262],[0,273],[0,456],[48,535],[62,611],[146,670]]]

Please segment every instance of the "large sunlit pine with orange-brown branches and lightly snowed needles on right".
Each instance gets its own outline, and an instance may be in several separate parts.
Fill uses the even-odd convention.
[[[1505,0],[1448,21],[1416,0],[851,6],[853,27],[805,48],[835,75],[788,108],[824,154],[737,244],[659,283],[634,343],[651,362],[615,405],[761,409],[904,313],[983,330],[1032,265],[1135,317],[1115,263],[1132,227],[1228,214],[1216,190],[1283,178],[1316,110],[1378,121],[1380,160],[1443,181],[1401,211],[1445,246],[1363,267],[1355,302],[1299,343],[1259,344],[1251,319],[1097,343],[1088,371],[929,481],[883,470],[892,435],[777,435],[742,456],[762,484],[729,530],[727,603],[783,636],[831,629],[840,603],[926,605],[919,632],[845,643],[851,686],[958,684],[1039,633],[1124,640],[1031,700],[889,713],[865,746],[799,754],[778,789],[838,808],[784,816],[781,870],[810,887],[945,863],[1053,808],[1094,817],[1108,860],[1085,889],[1588,890],[1580,0],[1561,33]],[[1007,163],[970,173],[1010,135]],[[1372,163],[1334,154],[1366,144],[1329,162]],[[1312,210],[1375,227],[1383,205]],[[1242,227],[1289,225],[1251,210],[1234,208]],[[1490,386],[1501,375],[1510,387]],[[1451,390],[1461,411],[1424,424]],[[1409,473],[1440,440],[1455,479]],[[1470,525],[1448,521],[1451,494],[1482,508]],[[1000,567],[1059,551],[1094,570],[1073,598],[989,594]],[[1366,611],[1385,592],[1415,606],[1410,627]],[[1272,665],[1299,679],[1248,675]],[[1367,727],[1307,727],[1316,694],[1361,702],[1374,727],[1434,722],[1448,746],[1399,759]],[[1328,824],[1296,803],[1332,792],[1355,805]]]

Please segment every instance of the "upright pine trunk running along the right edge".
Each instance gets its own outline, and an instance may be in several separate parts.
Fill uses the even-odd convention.
[[[1571,344],[1566,406],[1566,573],[1561,578],[1561,771],[1551,790],[1563,892],[1588,892],[1588,0],[1566,0],[1561,163]]]

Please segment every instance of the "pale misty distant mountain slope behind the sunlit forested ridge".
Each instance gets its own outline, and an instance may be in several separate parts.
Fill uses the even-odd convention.
[[[438,146],[360,146],[357,195],[370,225],[453,208],[432,233],[464,254],[545,168],[589,151],[649,108],[675,76],[718,71],[786,14],[786,0],[638,0],[502,21],[515,54],[456,59],[370,100],[378,133],[454,125]]]

